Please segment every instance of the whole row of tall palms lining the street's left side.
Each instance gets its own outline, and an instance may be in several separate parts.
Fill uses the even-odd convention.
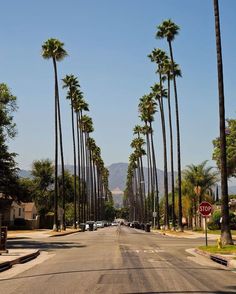
[[[54,181],[54,225],[53,230],[58,230],[58,194],[62,195],[63,229],[65,229],[65,169],[63,156],[62,122],[60,112],[59,86],[57,62],[67,56],[64,44],[57,39],[48,39],[42,45],[42,56],[52,59],[55,81],[55,181]],[[78,78],[66,75],[63,79],[63,88],[67,89],[66,98],[70,102],[71,127],[73,142],[73,178],[74,178],[74,227],[77,223],[87,220],[101,220],[104,218],[104,203],[112,201],[108,188],[109,172],[101,158],[101,150],[95,140],[90,136],[94,131],[92,118],[85,114],[89,111],[80,89]],[[59,138],[58,138],[59,134]],[[62,188],[58,188],[58,143],[61,158]]]

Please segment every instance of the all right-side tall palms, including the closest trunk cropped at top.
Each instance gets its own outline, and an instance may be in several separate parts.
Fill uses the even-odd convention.
[[[216,36],[216,52],[217,52],[217,72],[218,72],[218,92],[219,92],[219,130],[220,130],[220,166],[221,166],[221,212],[222,212],[222,225],[221,225],[221,238],[225,244],[233,244],[232,235],[229,227],[229,199],[228,199],[228,175],[227,175],[227,156],[226,156],[226,128],[225,128],[225,102],[224,102],[224,79],[223,79],[223,61],[221,50],[221,33],[220,33],[220,14],[218,0],[213,0],[214,18],[215,18],[215,36]],[[170,104],[170,82],[174,86],[174,99],[175,99],[175,117],[176,117],[176,140],[177,140],[177,187],[178,192],[178,227],[182,230],[182,188],[181,188],[181,152],[180,152],[180,126],[179,126],[179,109],[178,109],[178,95],[176,86],[176,77],[181,76],[181,71],[178,65],[174,62],[172,42],[179,32],[179,27],[171,20],[164,21],[157,27],[157,38],[166,38],[169,46],[169,54],[161,49],[154,49],[149,55],[152,62],[157,64],[157,73],[159,75],[159,83],[151,87],[152,92],[143,96],[139,103],[139,112],[144,126],[136,126],[135,130],[139,130],[138,134],[143,134],[146,141],[140,141],[138,144],[132,142],[134,152],[130,156],[129,168],[127,174],[127,183],[125,191],[125,204],[128,206],[135,205],[136,215],[140,220],[149,220],[150,212],[153,211],[154,221],[157,217],[157,226],[159,227],[159,195],[158,195],[158,182],[156,171],[155,151],[153,147],[153,128],[152,123],[154,114],[159,106],[162,135],[163,135],[163,160],[164,160],[164,196],[165,196],[165,212],[164,224],[169,227],[169,203],[168,203],[168,178],[167,178],[167,148],[166,148],[166,126],[165,126],[165,113],[163,107],[163,98],[167,97],[168,101],[168,117],[169,117],[169,142],[170,142],[170,166],[171,166],[171,194],[172,194],[172,225],[175,226],[175,201],[174,201],[174,164],[173,164],[173,129],[171,119],[171,104]],[[167,80],[167,90],[164,89],[163,83]],[[135,133],[137,133],[135,131]],[[140,135],[138,136],[140,139]],[[136,139],[135,139],[136,140]],[[135,141],[136,142],[136,141]],[[146,143],[146,151],[143,148]],[[145,186],[140,185],[144,183],[144,178],[138,178],[139,174],[143,174],[142,157],[147,155],[148,166],[148,184],[147,194],[145,194]],[[140,182],[138,182],[138,179]],[[146,197],[147,195],[147,197]],[[150,209],[151,204],[151,209]],[[157,211],[156,211],[157,210]],[[142,211],[144,213],[142,213]],[[131,214],[131,212],[130,212]],[[144,215],[144,217],[143,217]],[[151,215],[152,216],[152,215]],[[132,216],[134,219],[134,215]],[[155,225],[155,222],[154,222]]]

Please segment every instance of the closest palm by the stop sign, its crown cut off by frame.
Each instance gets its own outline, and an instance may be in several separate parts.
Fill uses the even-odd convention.
[[[218,69],[219,115],[220,115],[220,151],[221,151],[221,238],[225,244],[233,244],[229,228],[229,197],[227,182],[226,138],[225,138],[225,106],[224,106],[224,78],[221,52],[220,14],[218,0],[214,0],[215,33]]]

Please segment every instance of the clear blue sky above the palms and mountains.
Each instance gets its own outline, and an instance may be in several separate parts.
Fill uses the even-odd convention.
[[[224,58],[226,116],[236,110],[236,1],[219,1]],[[69,56],[58,64],[60,79],[78,76],[94,121],[93,137],[105,165],[127,162],[138,100],[157,81],[147,58],[156,26],[171,18],[181,28],[173,44],[182,69],[178,79],[182,165],[212,156],[218,136],[218,93],[213,1],[211,0],[8,0],[1,1],[0,77],[18,98],[18,136],[11,151],[20,168],[54,152],[54,81],[51,60],[41,57],[48,38],[65,43]],[[61,85],[61,84],[60,84]],[[65,163],[72,164],[70,107],[60,90]],[[154,123],[158,168],[162,169],[159,115]],[[176,169],[176,168],[175,168]]]

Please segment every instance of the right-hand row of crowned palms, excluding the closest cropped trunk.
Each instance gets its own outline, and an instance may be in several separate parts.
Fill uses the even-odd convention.
[[[140,98],[139,101],[139,117],[144,123],[143,126],[136,126],[134,128],[134,134],[138,134],[138,138],[135,138],[131,147],[134,148],[134,152],[130,156],[130,164],[127,176],[126,197],[132,199],[131,202],[136,203],[136,211],[140,212],[139,217],[144,221],[148,221],[154,217],[154,226],[160,227],[160,211],[159,211],[159,189],[157,178],[157,163],[156,153],[154,147],[153,138],[153,122],[157,109],[160,112],[161,118],[161,130],[162,130],[162,143],[163,143],[163,162],[164,162],[164,197],[165,197],[165,212],[164,212],[164,224],[167,228],[170,225],[169,217],[169,200],[168,200],[168,154],[167,154],[167,126],[166,126],[166,113],[164,99],[167,100],[168,107],[168,124],[169,124],[169,142],[170,142],[170,167],[171,167],[171,194],[172,194],[172,211],[171,219],[172,225],[176,226],[175,215],[175,180],[174,180],[174,140],[173,140],[173,121],[172,121],[172,107],[171,107],[171,85],[173,84],[174,99],[175,99],[175,117],[176,117],[176,145],[177,145],[177,166],[178,166],[178,226],[182,230],[182,201],[181,201],[181,156],[180,156],[180,127],[179,127],[179,110],[178,110],[178,95],[176,86],[176,77],[181,76],[181,71],[178,64],[174,62],[172,42],[175,36],[179,32],[179,27],[173,23],[170,19],[164,21],[157,27],[156,37],[165,38],[169,45],[168,54],[162,49],[154,49],[148,57],[151,62],[154,62],[157,66],[156,73],[158,75],[158,83],[155,83],[151,87],[151,92]],[[165,88],[166,83],[166,88]],[[138,131],[137,131],[138,130]],[[145,140],[140,137],[144,135]],[[146,144],[146,150],[143,148]],[[137,181],[137,174],[143,174],[142,162],[143,156],[147,156],[147,194],[144,193],[144,185],[140,185]],[[145,183],[145,180],[140,177],[141,183]],[[147,195],[147,197],[146,197]],[[134,199],[136,199],[134,201]],[[140,200],[137,200],[140,199]],[[142,213],[143,210],[145,213]]]

